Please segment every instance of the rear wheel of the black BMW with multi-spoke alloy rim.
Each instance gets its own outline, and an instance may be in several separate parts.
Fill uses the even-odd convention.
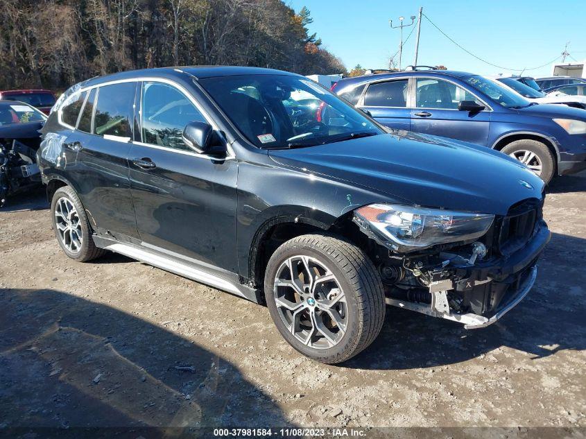
[[[92,239],[92,227],[76,191],[69,186],[60,187],[51,200],[51,217],[57,241],[68,257],[86,262],[105,254]]]

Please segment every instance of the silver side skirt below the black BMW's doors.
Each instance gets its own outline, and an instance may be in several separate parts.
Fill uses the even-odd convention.
[[[151,246],[148,243],[136,245],[97,235],[92,236],[92,238],[99,248],[137,259],[162,270],[187,277],[187,279],[238,295],[251,302],[260,302],[258,291],[241,284],[236,273],[222,270],[221,268],[205,264],[196,259],[178,255],[175,252],[171,253],[164,249],[158,250],[157,247]]]

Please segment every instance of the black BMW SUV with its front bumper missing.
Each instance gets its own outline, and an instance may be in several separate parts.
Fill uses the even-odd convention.
[[[549,241],[544,184],[523,164],[391,131],[284,71],[94,78],[42,132],[67,256],[119,252],[266,304],[324,363],[372,343],[386,304],[490,325],[531,289]]]

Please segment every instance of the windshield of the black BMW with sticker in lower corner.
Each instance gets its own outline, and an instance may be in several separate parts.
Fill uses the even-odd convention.
[[[199,83],[259,148],[314,146],[384,132],[362,112],[306,78],[243,75]]]

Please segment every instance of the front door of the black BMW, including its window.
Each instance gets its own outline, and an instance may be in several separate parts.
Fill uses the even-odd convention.
[[[193,96],[145,82],[137,107],[139,130],[128,157],[140,238],[236,273],[236,160],[212,159],[184,144],[187,123],[206,121]]]

